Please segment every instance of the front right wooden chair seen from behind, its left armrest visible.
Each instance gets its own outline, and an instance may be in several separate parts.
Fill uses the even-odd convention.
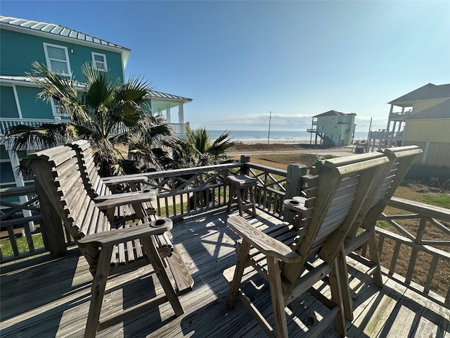
[[[347,275],[340,273],[336,262],[366,196],[376,189],[373,177],[381,175],[388,163],[383,154],[324,161],[318,168],[319,175],[309,180],[307,196],[298,201],[303,210],[297,227],[279,225],[264,233],[244,218],[231,216],[227,225],[240,235],[242,242],[236,244],[238,263],[224,271],[230,283],[229,308],[239,296],[266,334],[288,337],[285,306],[328,275],[331,299],[321,300],[331,308],[330,313],[309,333],[319,334],[335,319],[336,330],[345,335],[340,278]],[[269,284],[275,330],[240,288],[256,273]]]

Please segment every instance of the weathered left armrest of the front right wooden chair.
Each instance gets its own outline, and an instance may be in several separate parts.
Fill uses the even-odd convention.
[[[287,263],[303,260],[303,257],[292,251],[289,246],[255,229],[245,218],[231,216],[226,221],[226,225],[266,256],[273,256]]]

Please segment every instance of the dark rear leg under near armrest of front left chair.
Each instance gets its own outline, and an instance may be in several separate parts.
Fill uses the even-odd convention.
[[[98,257],[96,275],[92,282],[91,304],[87,316],[86,330],[84,337],[96,337],[98,319],[100,318],[101,304],[105,294],[106,279],[110,270],[111,254],[113,246],[106,246],[100,250]]]

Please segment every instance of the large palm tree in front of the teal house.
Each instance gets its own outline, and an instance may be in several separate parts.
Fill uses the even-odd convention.
[[[159,157],[164,154],[160,139],[172,137],[172,130],[146,111],[145,96],[152,89],[149,82],[131,77],[121,84],[89,63],[82,66],[82,83],[37,62],[33,67],[34,72],[27,75],[43,88],[39,97],[57,101],[60,109],[70,115],[70,122],[11,127],[4,137],[11,140],[14,149],[26,149],[27,145],[48,148],[88,139],[101,175],[159,167]]]

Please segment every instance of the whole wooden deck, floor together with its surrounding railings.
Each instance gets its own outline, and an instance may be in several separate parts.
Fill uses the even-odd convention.
[[[179,297],[185,309],[179,317],[174,317],[170,306],[161,305],[100,330],[97,337],[264,336],[243,303],[236,302],[231,310],[226,307],[229,285],[222,272],[236,263],[234,243],[238,237],[226,227],[226,218],[237,211],[226,211],[228,190],[223,179],[240,170],[258,182],[257,215],[245,214],[245,218],[255,227],[283,222],[282,206],[288,177],[285,170],[247,162],[146,173],[150,188],[158,189],[157,214],[178,220],[172,229],[172,242],[195,281],[193,291]],[[187,179],[186,175],[191,178]],[[212,175],[216,179],[212,179]],[[179,187],[160,184],[170,180],[184,184]],[[203,192],[209,192],[207,196],[214,198],[207,204],[192,203],[195,196]],[[33,194],[33,187],[2,190],[2,204],[6,206],[6,200],[20,194]],[[13,208],[11,204],[8,206]],[[347,258],[350,287],[356,291],[354,320],[347,320],[347,334],[349,337],[446,337],[450,332],[450,211],[397,198],[393,198],[389,206],[382,220],[392,227],[376,230],[384,266],[384,286],[376,287],[369,280],[361,287],[364,280],[360,261],[364,258],[358,253]],[[4,337],[81,337],[91,298],[89,265],[67,237],[64,243],[59,243],[68,248],[67,254],[52,258],[48,240],[51,234],[46,233],[46,225],[39,218],[39,207],[35,204],[15,207],[19,214],[21,209],[32,208],[37,231],[31,233],[27,227],[30,218],[20,219],[19,215],[2,219],[2,236],[11,241],[13,254],[1,257],[0,334]],[[418,226],[406,228],[404,221],[416,222]],[[412,230],[414,228],[416,230]],[[423,237],[435,231],[443,234],[439,241]],[[15,238],[20,232],[25,233],[25,243],[28,243],[25,251],[19,249]],[[46,247],[34,248],[33,237],[43,235]],[[384,254],[388,250],[392,254]],[[428,270],[417,272],[417,257],[423,260],[423,256],[430,261]],[[29,258],[18,261],[25,257]],[[439,282],[439,275],[444,275],[444,282]],[[139,277],[134,272],[111,278],[106,289],[101,316],[117,308],[131,308],[148,300],[149,293],[161,292],[149,266],[141,268]],[[326,293],[328,289],[320,291]],[[265,306],[268,310],[271,307],[270,303]],[[290,304],[288,312],[291,319],[306,320],[311,328],[316,324],[314,315],[321,311],[328,309],[321,308],[313,296],[305,294],[300,301]],[[297,329],[290,327],[289,330]],[[333,327],[326,330],[324,336],[339,337]],[[293,333],[292,337],[297,335]]]

